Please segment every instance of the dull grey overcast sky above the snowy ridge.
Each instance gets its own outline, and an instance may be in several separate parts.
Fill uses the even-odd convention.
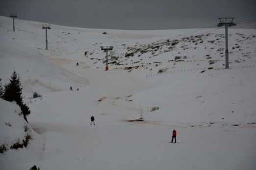
[[[49,24],[122,30],[207,28],[232,17],[233,28],[256,29],[256,0],[0,0],[0,15],[10,13]]]

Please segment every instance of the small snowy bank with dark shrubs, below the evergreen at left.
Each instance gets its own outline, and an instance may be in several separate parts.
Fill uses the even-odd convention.
[[[21,109],[15,102],[8,102],[0,98],[0,145],[8,151],[0,154],[1,170],[4,165],[22,164],[24,160],[37,161],[42,159],[42,145],[44,137],[36,133],[20,114]],[[10,149],[14,143],[23,143],[25,136],[32,135],[34,139],[23,149]]]

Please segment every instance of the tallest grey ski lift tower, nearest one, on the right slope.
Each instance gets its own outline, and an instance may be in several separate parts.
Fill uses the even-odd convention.
[[[229,49],[228,49],[228,27],[235,26],[236,24],[233,23],[234,18],[218,18],[220,19],[220,23],[217,25],[221,27],[225,25],[225,33],[226,33],[226,51],[225,51],[225,59],[226,59],[226,69],[229,68]],[[225,20],[224,20],[225,19]],[[228,21],[229,19],[229,21]]]

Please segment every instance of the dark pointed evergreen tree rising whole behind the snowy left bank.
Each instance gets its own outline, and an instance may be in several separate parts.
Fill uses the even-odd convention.
[[[30,110],[26,104],[23,104],[22,89],[20,78],[14,71],[11,76],[10,83],[5,84],[4,86],[2,98],[7,101],[16,101],[22,110],[24,119],[27,121],[26,116],[30,114]]]

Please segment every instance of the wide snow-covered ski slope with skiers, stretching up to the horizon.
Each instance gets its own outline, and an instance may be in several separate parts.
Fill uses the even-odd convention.
[[[25,125],[34,139],[0,154],[0,169],[255,170],[256,30],[229,28],[231,69],[222,69],[224,28],[50,25],[45,50],[42,23],[12,24],[0,17],[1,83],[19,74],[31,114],[26,124],[0,100],[0,144],[22,138]],[[109,71],[105,45],[114,47]],[[179,144],[168,143],[173,129]]]

